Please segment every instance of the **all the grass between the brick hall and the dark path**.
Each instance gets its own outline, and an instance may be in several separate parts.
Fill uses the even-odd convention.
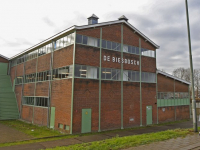
[[[169,125],[169,124],[181,123],[181,122],[185,122],[185,121],[187,121],[187,120],[162,123],[162,124],[152,125],[152,126]],[[133,128],[123,129],[123,130],[117,129],[117,130],[95,132],[95,133],[64,135],[64,134],[60,133],[59,131],[49,129],[47,127],[41,127],[41,126],[29,124],[29,123],[19,121],[19,120],[0,121],[0,123],[10,126],[12,128],[15,128],[15,129],[17,129],[21,132],[24,132],[25,134],[30,135],[34,138],[34,139],[26,140],[26,141],[0,143],[0,147],[21,145],[21,144],[30,144],[30,143],[45,142],[45,141],[53,141],[53,140],[60,140],[60,139],[68,139],[68,138],[75,138],[75,137],[80,137],[80,136],[105,134],[105,133],[118,132],[118,131],[123,131],[123,130],[124,131],[138,130],[138,129],[142,130],[142,129],[150,127],[150,126],[143,126],[143,127],[133,127]],[[31,131],[31,130],[34,130],[34,131]],[[147,135],[147,134],[145,134],[145,135]],[[55,137],[55,136],[60,136],[60,137]],[[45,138],[45,137],[47,137],[47,138]],[[38,139],[38,138],[42,138],[42,139]]]

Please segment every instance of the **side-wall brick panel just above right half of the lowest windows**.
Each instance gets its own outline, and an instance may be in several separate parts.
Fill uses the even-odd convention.
[[[35,96],[48,96],[49,93],[49,81],[37,82]]]

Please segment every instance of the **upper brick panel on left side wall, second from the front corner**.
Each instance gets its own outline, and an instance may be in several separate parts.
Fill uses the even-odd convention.
[[[50,70],[51,53],[38,57],[37,72]]]

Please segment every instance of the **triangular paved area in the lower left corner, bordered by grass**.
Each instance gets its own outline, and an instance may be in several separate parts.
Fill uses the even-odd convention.
[[[0,123],[0,143],[16,142],[32,138],[33,137],[26,135],[23,132]]]

